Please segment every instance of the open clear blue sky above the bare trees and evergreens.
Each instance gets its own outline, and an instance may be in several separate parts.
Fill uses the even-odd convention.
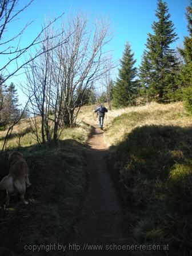
[[[21,6],[25,3],[25,0],[19,1]],[[190,0],[167,0],[166,3],[179,37],[173,47],[182,46],[183,37],[188,35],[185,8],[190,5]],[[63,12],[73,14],[80,10],[89,12],[91,17],[104,14],[110,19],[114,30],[110,45],[114,50],[114,59],[122,58],[125,43],[129,41],[134,58],[137,59],[136,65],[139,66],[147,33],[152,32],[151,24],[155,21],[156,9],[157,0],[35,0],[21,18],[13,23],[12,29],[16,30],[23,23],[34,19],[33,24],[25,31],[25,37],[22,38],[27,42],[41,30],[45,17],[57,17]],[[115,73],[117,74],[117,70]]]

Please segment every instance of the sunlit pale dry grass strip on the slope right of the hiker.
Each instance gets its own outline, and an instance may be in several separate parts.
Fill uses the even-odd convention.
[[[130,115],[126,118],[126,114],[129,113],[131,118]],[[119,117],[119,122],[113,122],[117,117]],[[135,127],[145,125],[189,127],[192,118],[186,115],[182,102],[167,105],[152,102],[146,106],[109,111],[107,121],[104,138],[106,145],[111,146],[121,142],[125,134],[130,133]]]

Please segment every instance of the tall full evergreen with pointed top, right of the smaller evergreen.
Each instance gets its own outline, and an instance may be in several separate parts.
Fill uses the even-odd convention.
[[[170,99],[177,90],[174,76],[178,70],[178,59],[170,47],[177,40],[177,34],[168,11],[166,2],[158,0],[157,22],[151,26],[153,34],[148,34],[147,49],[139,69],[142,86],[159,102]]]

